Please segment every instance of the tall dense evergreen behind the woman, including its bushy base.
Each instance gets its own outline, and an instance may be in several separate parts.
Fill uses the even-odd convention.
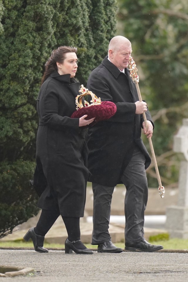
[[[86,85],[107,54],[115,12],[115,0],[0,0],[0,210],[6,226],[1,236],[36,213],[34,192],[25,192],[25,182],[34,170],[44,64],[58,46],[76,46],[77,78]],[[16,199],[15,206],[9,199]]]

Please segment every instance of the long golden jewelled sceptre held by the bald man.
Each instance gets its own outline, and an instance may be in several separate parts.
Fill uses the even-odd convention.
[[[136,85],[139,101],[142,102],[142,97],[141,97],[140,89],[139,89],[139,86],[138,86],[139,76],[137,75],[137,67],[136,67],[135,61],[133,60],[132,57],[129,58],[129,70],[130,70],[130,77],[132,77],[132,81]],[[143,113],[143,117],[144,117],[146,129],[148,129],[145,112]],[[153,161],[154,161],[154,165],[155,165],[155,171],[156,171],[156,174],[157,174],[157,180],[158,180],[158,183],[159,183],[158,191],[159,191],[161,198],[164,198],[165,190],[164,190],[164,187],[162,186],[162,183],[161,183],[161,179],[160,179],[160,175],[159,175],[159,169],[158,169],[158,166],[157,166],[157,161],[156,161],[155,152],[154,152],[154,149],[153,149],[151,137],[149,137],[148,140],[149,140],[149,143],[150,143],[152,157],[153,157]]]

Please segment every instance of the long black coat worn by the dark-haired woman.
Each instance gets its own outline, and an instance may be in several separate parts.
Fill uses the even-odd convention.
[[[70,74],[54,71],[42,84],[37,112],[36,189],[46,178],[46,189],[39,191],[38,207],[60,209],[62,216],[82,217],[85,206],[88,148],[87,129],[80,128],[79,118],[70,118],[75,111],[79,83]]]

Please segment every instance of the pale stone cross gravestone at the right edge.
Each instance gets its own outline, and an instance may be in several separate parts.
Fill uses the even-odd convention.
[[[166,228],[171,238],[188,239],[188,119],[183,119],[174,136],[174,152],[179,153],[180,169],[177,206],[167,207]]]

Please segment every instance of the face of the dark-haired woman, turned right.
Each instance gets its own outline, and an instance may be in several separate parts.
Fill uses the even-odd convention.
[[[77,61],[78,58],[76,56],[76,53],[73,52],[66,53],[63,63],[57,62],[58,73],[60,75],[70,73],[70,77],[74,77],[76,74],[76,70],[78,68]]]

